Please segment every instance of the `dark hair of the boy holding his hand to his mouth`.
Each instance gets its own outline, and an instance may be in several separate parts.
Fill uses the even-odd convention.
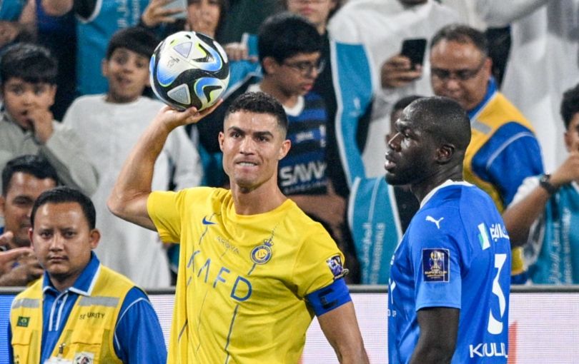
[[[9,46],[0,59],[0,81],[19,78],[30,84],[56,84],[58,62],[44,46],[16,43]]]

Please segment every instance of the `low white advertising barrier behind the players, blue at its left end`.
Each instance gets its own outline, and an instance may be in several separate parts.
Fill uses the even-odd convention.
[[[0,288],[0,363],[8,363],[10,304],[21,288]],[[350,285],[370,363],[387,363],[387,287]],[[169,338],[174,290],[148,290]],[[579,286],[515,286],[509,311],[508,363],[579,363]],[[480,351],[480,350],[479,350]],[[476,355],[476,353],[475,353]],[[302,364],[337,363],[320,325],[307,331]]]

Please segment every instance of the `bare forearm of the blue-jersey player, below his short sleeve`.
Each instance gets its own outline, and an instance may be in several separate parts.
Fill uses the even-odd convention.
[[[433,307],[418,310],[420,337],[410,358],[412,364],[450,363],[455,353],[460,310]]]

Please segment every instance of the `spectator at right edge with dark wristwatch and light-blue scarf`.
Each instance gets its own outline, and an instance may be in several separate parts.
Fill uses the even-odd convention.
[[[560,110],[567,159],[552,174],[525,178],[503,214],[537,284],[579,283],[579,85],[563,93]]]

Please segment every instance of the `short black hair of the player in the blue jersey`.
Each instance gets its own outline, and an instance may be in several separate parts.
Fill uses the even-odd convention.
[[[422,97],[408,106],[435,140],[464,153],[470,143],[470,118],[459,103],[443,96]]]

